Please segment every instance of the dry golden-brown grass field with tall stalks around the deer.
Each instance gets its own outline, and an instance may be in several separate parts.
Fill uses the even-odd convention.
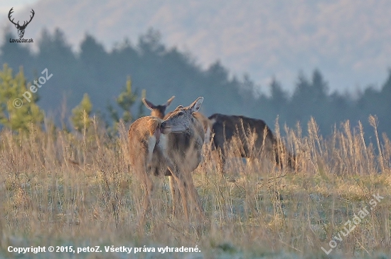
[[[4,129],[0,258],[391,258],[391,142],[377,135],[375,117],[370,122],[371,143],[349,122],[327,137],[312,120],[284,129],[297,171],[230,159],[221,177],[206,150],[193,172],[205,220],[172,217],[168,179],[155,177],[144,231],[136,227],[143,190],[127,162],[124,125],[115,138],[98,123],[83,134]],[[49,245],[68,252],[8,251]],[[102,253],[69,252],[97,245]],[[121,246],[132,253],[105,251]],[[200,252],[168,252],[182,246]]]

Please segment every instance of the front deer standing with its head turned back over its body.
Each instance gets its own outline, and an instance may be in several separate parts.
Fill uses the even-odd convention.
[[[181,194],[183,212],[189,221],[188,202],[202,215],[197,191],[191,172],[202,161],[204,141],[203,126],[193,115],[200,109],[203,97],[198,97],[188,107],[179,105],[166,120],[159,117],[141,117],[129,128],[130,164],[145,188],[143,213],[139,221],[144,223],[151,203],[153,181],[151,176],[169,176],[173,196],[173,212],[176,211],[175,182]]]

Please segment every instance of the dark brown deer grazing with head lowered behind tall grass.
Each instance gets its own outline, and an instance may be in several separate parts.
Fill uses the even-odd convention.
[[[282,166],[282,154],[286,153],[286,148],[278,142],[263,120],[219,113],[211,115],[208,119],[212,124],[213,147],[220,151],[222,175],[225,174],[227,147],[232,147],[234,144],[237,144],[236,151],[242,158],[258,159],[261,152],[264,152],[268,157],[272,157],[277,165]],[[293,154],[287,154],[287,162],[291,169],[295,168]]]

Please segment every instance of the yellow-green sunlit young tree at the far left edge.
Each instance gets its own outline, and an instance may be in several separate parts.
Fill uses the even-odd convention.
[[[37,93],[30,89],[22,68],[14,77],[12,69],[4,64],[0,71],[0,125],[22,131],[28,131],[30,124],[41,127],[44,114],[36,105]]]

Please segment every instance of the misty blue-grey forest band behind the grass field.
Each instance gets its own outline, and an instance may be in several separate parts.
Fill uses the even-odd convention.
[[[277,117],[279,125],[288,127],[296,127],[297,122],[305,125],[314,117],[321,134],[326,135],[340,127],[341,122],[350,120],[351,125],[357,125],[358,121],[363,123],[365,134],[370,137],[373,130],[368,117],[375,115],[379,132],[391,133],[391,70],[380,90],[368,85],[354,95],[331,93],[327,79],[318,68],[309,76],[299,73],[293,93],[284,90],[278,78],[270,85],[262,85],[267,89],[264,92],[268,92],[263,93],[257,90],[250,75],[232,76],[219,60],[202,68],[191,53],[164,46],[161,33],[153,28],[139,36],[137,43],[124,39],[109,51],[86,34],[77,53],[59,29],[53,33],[43,30],[41,38],[36,39],[38,50],[34,51],[31,44],[6,41],[15,38],[11,32],[4,37],[0,46],[0,70],[4,75],[9,73],[6,70],[12,71],[11,76],[21,73],[21,82],[27,89],[41,76],[41,71],[47,69],[53,74],[50,81],[33,93],[33,98],[37,109],[43,110],[56,125],[76,128],[70,120],[70,111],[85,94],[91,102],[91,113],[101,117],[107,126],[118,120],[118,110],[127,113],[128,121],[135,120],[148,113],[140,105],[144,94],[156,104],[176,95],[171,109],[204,96],[202,112],[205,115],[215,112],[245,115],[262,119],[272,128]],[[3,93],[9,93],[6,85],[2,76],[0,91]],[[124,93],[132,99],[128,105],[119,103],[119,96]],[[12,101],[11,95],[2,95],[0,124],[4,126],[14,107],[7,105]]]

